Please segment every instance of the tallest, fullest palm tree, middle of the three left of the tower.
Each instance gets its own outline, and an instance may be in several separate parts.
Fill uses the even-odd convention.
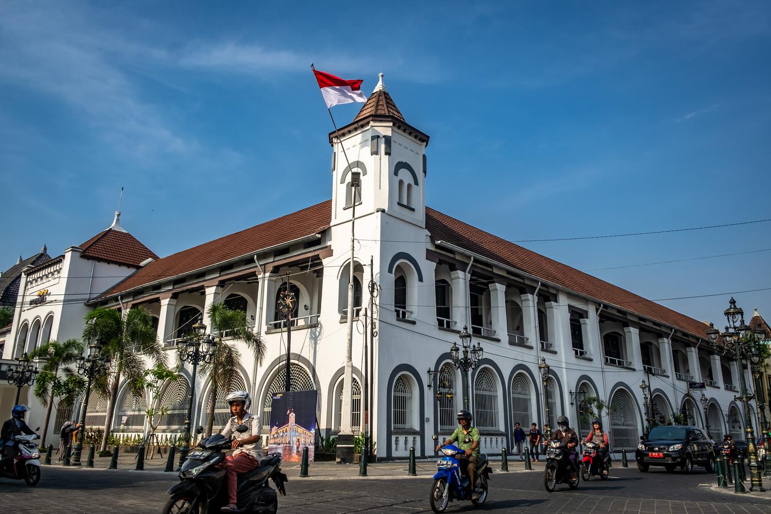
[[[143,357],[156,363],[166,360],[163,345],[158,342],[156,332],[150,311],[142,306],[133,307],[123,313],[99,307],[86,314],[83,339],[101,343],[102,354],[110,360],[109,369],[96,379],[97,388],[106,393],[108,399],[100,451],[107,448],[121,378],[126,379],[131,392],[138,396],[143,395],[141,384],[146,368]]]

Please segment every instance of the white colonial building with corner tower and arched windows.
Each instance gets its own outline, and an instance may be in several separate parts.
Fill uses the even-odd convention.
[[[284,389],[287,329],[277,300],[278,292],[289,287],[299,298],[291,328],[291,388],[318,390],[318,424],[323,433],[335,434],[342,415],[355,203],[353,315],[359,321],[365,314],[374,317],[376,336],[368,341],[369,331],[357,321],[352,425],[360,429],[369,418],[379,458],[404,457],[410,446],[419,455],[432,455],[431,436],[455,427],[463,395],[449,348],[460,343],[463,325],[484,348],[469,380],[470,406],[485,452],[510,448],[515,422],[543,426],[546,397],[551,417],[564,414],[575,420],[576,391],[608,401],[612,411],[604,413],[604,425],[614,448],[635,448],[646,417],[639,387],[643,379],[650,383],[655,418],[685,413],[689,422],[709,425],[714,438],[726,432],[742,438],[743,416],[734,401],[739,371],[711,351],[705,324],[426,207],[432,176],[426,168],[429,136],[406,122],[382,79],[339,136],[329,135],[331,200],[126,268],[126,278],[116,284],[91,284],[88,291],[99,291],[98,297],[89,295],[87,306],[59,314],[71,316],[66,337],[78,335],[86,308],[143,305],[157,317],[158,337],[172,352],[173,341],[193,321],[203,317],[208,324],[209,304],[224,301],[246,311],[267,344],[262,363],[241,346],[241,377],[230,386],[251,391],[252,410],[267,419],[271,395]],[[352,190],[354,172],[361,176],[360,194]],[[67,254],[60,259],[65,265]],[[56,259],[45,269],[55,264]],[[28,284],[38,271],[30,273]],[[78,274],[88,275],[89,269]],[[377,284],[374,309],[369,309],[371,276]],[[55,291],[56,286],[40,282],[35,287]],[[17,316],[13,334],[29,347],[28,336],[21,335],[22,317],[30,328],[34,320],[25,316]],[[45,324],[42,311],[39,317]],[[52,334],[62,338],[61,329]],[[545,388],[538,370],[541,358],[550,366]],[[430,378],[430,390],[427,370],[439,371]],[[204,424],[210,401],[217,401],[215,421],[222,422],[227,388],[219,388],[214,398],[208,378],[198,376],[194,423]],[[189,378],[186,370],[157,398],[131,398],[121,388],[116,432],[146,432],[143,411],[152,404],[170,409],[159,432],[180,433]],[[437,401],[439,381],[445,394]],[[706,383],[706,409],[700,393],[689,393],[689,381]],[[371,385],[369,416],[362,398],[366,384]],[[102,424],[103,403],[98,398],[92,402],[89,424]],[[130,422],[120,425],[124,416]],[[585,433],[588,422],[580,425]]]

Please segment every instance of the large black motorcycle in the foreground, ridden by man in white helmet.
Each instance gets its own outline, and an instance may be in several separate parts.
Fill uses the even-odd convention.
[[[238,425],[236,432],[247,432],[246,425]],[[199,434],[203,428],[198,428]],[[225,470],[217,465],[225,461],[225,450],[231,449],[232,439],[221,434],[201,439],[200,450],[187,454],[182,464],[180,483],[173,485],[163,514],[209,514],[219,512],[226,506],[227,480]],[[273,480],[281,496],[286,496],[284,482],[287,475],[281,472],[281,454],[273,453],[260,459],[254,469],[238,475],[238,512],[251,514],[275,514],[278,510],[278,496],[268,485]]]

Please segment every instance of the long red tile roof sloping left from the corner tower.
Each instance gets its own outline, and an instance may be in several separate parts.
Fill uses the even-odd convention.
[[[107,297],[129,291],[168,277],[213,266],[264,248],[322,232],[329,227],[331,219],[332,200],[326,200],[312,207],[298,210],[296,213],[287,214],[155,260],[105,291],[101,296]]]

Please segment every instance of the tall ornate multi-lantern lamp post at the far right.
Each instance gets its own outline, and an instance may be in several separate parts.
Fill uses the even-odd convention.
[[[726,331],[721,334],[720,331],[710,323],[709,329],[707,330],[707,337],[712,344],[715,344],[718,341],[718,338],[722,336],[722,352],[729,355],[729,357],[736,358],[736,366],[739,368],[739,384],[741,387],[741,396],[736,399],[742,402],[742,407],[744,408],[744,425],[747,434],[747,450],[749,453],[749,490],[765,491],[765,489],[763,489],[763,481],[760,478],[758,448],[755,444],[755,433],[752,431],[752,418],[749,414],[749,400],[751,398],[747,394],[747,385],[744,378],[744,360],[752,358],[752,355],[755,353],[753,351],[756,350],[756,348],[753,348],[755,338],[749,338],[750,331],[749,327],[744,323],[744,311],[742,310],[742,307],[736,307],[736,300],[731,298],[729,307],[726,311],[723,311],[723,314],[726,315],[726,319],[728,320]]]

